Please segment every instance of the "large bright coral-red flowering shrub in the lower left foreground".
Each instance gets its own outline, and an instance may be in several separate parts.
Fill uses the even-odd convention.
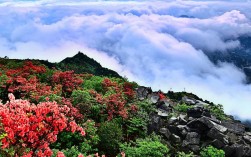
[[[35,105],[27,100],[15,100],[13,94],[9,94],[9,99],[6,104],[0,104],[0,132],[6,133],[1,142],[2,149],[11,148],[15,156],[51,156],[49,145],[57,140],[57,134],[63,130],[79,131],[85,135],[74,117],[69,116],[73,113],[67,105],[56,102]]]

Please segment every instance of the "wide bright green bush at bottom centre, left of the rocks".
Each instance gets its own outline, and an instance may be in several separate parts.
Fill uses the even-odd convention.
[[[160,142],[156,135],[144,139],[137,139],[135,143],[124,143],[120,145],[120,150],[129,157],[164,157],[169,149]]]

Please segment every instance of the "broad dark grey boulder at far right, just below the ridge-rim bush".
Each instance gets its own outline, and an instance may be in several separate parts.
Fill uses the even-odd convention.
[[[240,122],[222,121],[221,125],[226,127],[230,132],[233,132],[238,135],[243,135],[245,132],[245,125],[241,124]]]

